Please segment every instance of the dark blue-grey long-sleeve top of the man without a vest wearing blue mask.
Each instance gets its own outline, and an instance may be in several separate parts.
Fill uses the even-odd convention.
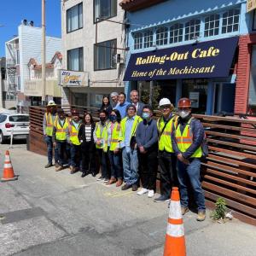
[[[157,149],[158,131],[156,121],[151,119],[149,122],[143,120],[137,126],[136,143],[138,147],[148,151],[150,149]]]

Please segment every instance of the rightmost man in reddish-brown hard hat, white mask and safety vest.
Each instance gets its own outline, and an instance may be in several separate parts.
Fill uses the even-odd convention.
[[[188,181],[190,181],[198,210],[196,219],[202,221],[206,218],[205,196],[200,181],[202,143],[205,131],[201,121],[191,115],[189,98],[181,98],[177,108],[179,118],[176,128],[172,131],[172,147],[177,155],[177,178],[181,194],[182,214],[189,211]]]

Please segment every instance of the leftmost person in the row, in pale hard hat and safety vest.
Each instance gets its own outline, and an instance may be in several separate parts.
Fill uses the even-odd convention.
[[[46,106],[46,112],[44,113],[43,120],[43,131],[44,131],[44,141],[47,145],[47,156],[48,164],[44,168],[49,168],[52,165],[53,159],[53,150],[55,151],[55,167],[59,167],[58,164],[58,149],[53,147],[52,143],[52,133],[55,119],[57,118],[56,114],[56,104],[54,101],[49,101]]]

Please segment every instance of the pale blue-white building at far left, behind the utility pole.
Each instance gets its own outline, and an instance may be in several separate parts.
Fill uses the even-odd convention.
[[[41,27],[34,26],[33,21],[22,20],[17,36],[5,43],[7,87],[9,94],[16,96],[16,105],[20,107],[32,104],[32,97],[25,93],[26,80],[30,77],[28,63],[31,58],[37,63],[41,62],[41,38]],[[46,62],[50,62],[55,53],[60,51],[61,38],[47,36]],[[52,97],[49,95],[49,98]]]

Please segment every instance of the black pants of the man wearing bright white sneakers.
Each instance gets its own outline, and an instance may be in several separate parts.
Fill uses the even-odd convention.
[[[144,189],[155,190],[157,173],[157,150],[141,154],[138,152],[140,177]]]

